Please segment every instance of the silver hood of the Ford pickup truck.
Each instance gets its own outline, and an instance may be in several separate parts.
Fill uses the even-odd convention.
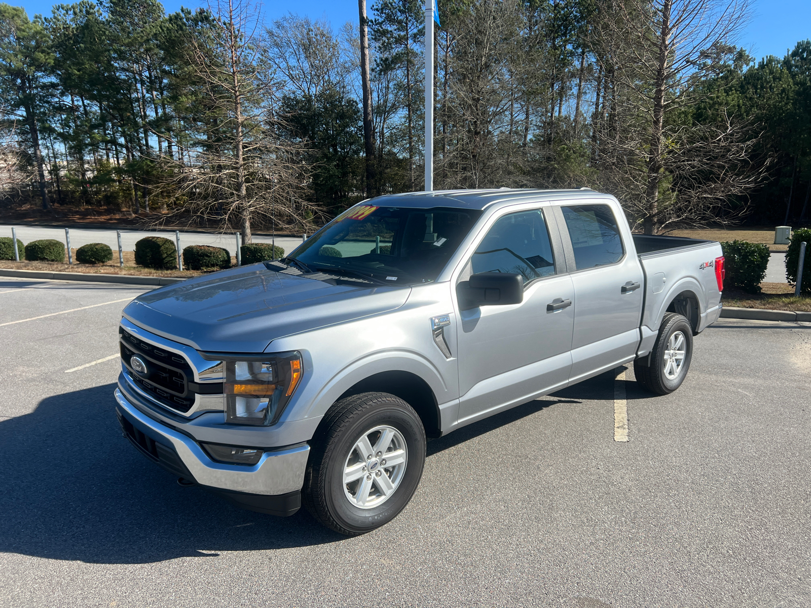
[[[222,353],[262,353],[272,340],[402,306],[410,288],[331,285],[261,263],[140,295],[124,316],[150,332]]]

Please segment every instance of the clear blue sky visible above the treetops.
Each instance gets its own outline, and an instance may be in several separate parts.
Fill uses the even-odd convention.
[[[35,13],[50,15],[54,2],[47,0],[24,0],[10,4],[22,4],[29,16]],[[67,0],[62,0],[66,2]],[[371,6],[374,0],[367,0]],[[167,12],[177,11],[180,6],[204,6],[205,0],[165,0]],[[288,11],[307,15],[311,19],[324,17],[338,28],[345,21],[358,20],[358,2],[355,0],[304,0],[304,2],[266,2],[266,19],[276,19]],[[811,38],[811,2],[809,0],[755,0],[754,18],[744,31],[739,45],[749,50],[755,58],[767,54],[783,57],[787,49],[793,49],[797,41]]]

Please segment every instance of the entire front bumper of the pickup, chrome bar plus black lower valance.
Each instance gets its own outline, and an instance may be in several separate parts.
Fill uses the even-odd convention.
[[[242,507],[272,515],[292,515],[301,505],[301,488],[310,446],[264,452],[253,466],[211,460],[198,443],[152,420],[115,390],[116,413],[124,436],[170,473],[214,490]]]

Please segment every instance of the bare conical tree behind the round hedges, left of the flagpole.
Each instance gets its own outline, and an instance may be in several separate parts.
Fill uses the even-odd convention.
[[[203,92],[204,127],[191,145],[172,142],[181,160],[164,158],[171,169],[165,186],[187,198],[178,212],[191,212],[194,220],[238,225],[247,244],[255,221],[273,217],[301,225],[313,208],[305,198],[307,174],[300,150],[277,135],[279,118],[272,112],[271,68],[262,60],[266,47],[260,16],[241,0],[222,0],[209,11],[211,26],[188,51],[193,86]]]

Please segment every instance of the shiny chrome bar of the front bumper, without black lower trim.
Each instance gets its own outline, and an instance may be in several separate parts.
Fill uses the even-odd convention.
[[[264,452],[261,460],[253,466],[224,465],[206,456],[193,439],[141,413],[118,388],[115,389],[115,399],[129,422],[139,426],[142,433],[150,435],[157,443],[172,447],[194,481],[202,486],[255,495],[281,495],[302,488],[310,453],[308,445]]]

